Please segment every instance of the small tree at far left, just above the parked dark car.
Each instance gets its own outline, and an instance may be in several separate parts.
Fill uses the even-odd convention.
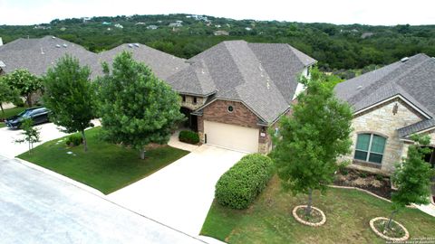
[[[20,92],[29,107],[32,107],[32,95],[34,92],[43,88],[41,79],[31,74],[29,70],[14,70],[14,72],[5,75],[6,83]]]

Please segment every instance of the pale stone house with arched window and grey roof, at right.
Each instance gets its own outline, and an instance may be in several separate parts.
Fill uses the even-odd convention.
[[[353,107],[353,167],[391,174],[408,152],[411,135],[429,135],[435,164],[435,59],[404,58],[346,80],[335,93]]]

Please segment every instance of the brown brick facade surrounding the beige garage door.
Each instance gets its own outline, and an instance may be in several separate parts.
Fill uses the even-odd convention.
[[[234,110],[229,112],[228,106],[232,106]],[[203,108],[203,115],[198,116],[198,135],[202,143],[205,141],[204,120],[239,127],[259,128],[258,152],[267,154],[270,151],[270,136],[267,135],[267,128],[258,126],[258,117],[241,102],[216,100]]]

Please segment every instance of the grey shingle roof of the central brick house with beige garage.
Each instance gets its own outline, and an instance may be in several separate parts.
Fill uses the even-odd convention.
[[[174,89],[242,101],[270,123],[289,108],[300,73],[315,60],[288,44],[228,41],[189,62],[167,80]]]

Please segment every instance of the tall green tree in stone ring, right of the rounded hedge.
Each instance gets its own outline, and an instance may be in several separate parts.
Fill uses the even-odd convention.
[[[305,214],[311,214],[312,192],[324,192],[338,168],[336,158],[347,154],[352,112],[339,101],[322,74],[313,69],[311,79],[301,79],[305,92],[297,97],[292,117],[282,117],[274,136],[272,158],[286,190],[308,194]]]

